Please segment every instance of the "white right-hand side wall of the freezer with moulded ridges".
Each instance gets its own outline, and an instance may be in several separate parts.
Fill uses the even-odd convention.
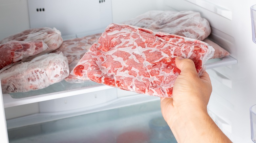
[[[202,17],[210,22],[212,27],[210,37],[220,42],[231,56],[237,59],[238,63],[235,65],[208,71],[213,85],[208,109],[226,122],[228,129],[225,132],[233,142],[252,142],[249,107],[256,104],[256,44],[252,41],[250,6],[256,4],[256,1],[179,0],[179,3],[177,1],[165,0],[165,4],[177,10],[199,11]],[[212,4],[229,10],[231,18],[207,10]]]

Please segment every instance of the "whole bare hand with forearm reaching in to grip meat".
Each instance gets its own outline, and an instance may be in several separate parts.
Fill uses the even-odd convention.
[[[161,112],[178,142],[231,142],[207,113],[212,92],[210,77],[204,72],[199,77],[190,59],[178,57],[176,66],[181,70],[172,98],[161,97]]]

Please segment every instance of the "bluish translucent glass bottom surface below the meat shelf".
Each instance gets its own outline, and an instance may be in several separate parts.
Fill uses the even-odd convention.
[[[10,143],[176,143],[160,101],[8,130]]]

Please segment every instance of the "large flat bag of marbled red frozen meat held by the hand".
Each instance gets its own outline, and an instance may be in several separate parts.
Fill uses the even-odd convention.
[[[178,56],[194,61],[202,75],[214,54],[207,43],[125,24],[110,24],[71,74],[146,95],[172,97]]]

